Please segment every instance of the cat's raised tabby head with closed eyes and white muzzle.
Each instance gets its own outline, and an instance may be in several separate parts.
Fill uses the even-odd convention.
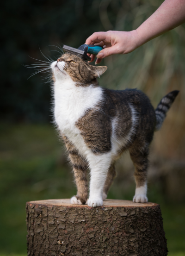
[[[71,78],[74,82],[87,85],[96,83],[96,78],[102,75],[107,67],[94,67],[71,53],[63,54],[51,64],[54,81],[63,81]]]

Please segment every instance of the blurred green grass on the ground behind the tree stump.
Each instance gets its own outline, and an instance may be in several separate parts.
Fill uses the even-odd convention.
[[[0,131],[0,256],[24,256],[26,201],[71,197],[73,175],[52,126],[1,125]],[[120,177],[109,198],[131,200],[134,182],[125,187]],[[185,256],[185,205],[166,203],[158,184],[148,190],[161,206],[168,255]]]

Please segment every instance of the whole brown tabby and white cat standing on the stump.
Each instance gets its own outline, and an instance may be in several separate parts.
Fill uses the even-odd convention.
[[[129,150],[135,166],[133,201],[146,203],[149,144],[160,129],[179,91],[162,98],[156,110],[137,89],[109,90],[97,77],[107,67],[95,67],[80,56],[64,53],[51,64],[54,117],[73,165],[77,195],[71,204],[102,206],[116,175],[115,161]]]

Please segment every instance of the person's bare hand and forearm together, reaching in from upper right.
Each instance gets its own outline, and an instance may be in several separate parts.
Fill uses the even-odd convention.
[[[100,44],[105,49],[97,55],[95,64],[112,54],[129,53],[149,40],[185,22],[185,1],[165,0],[142,25],[133,31],[95,32],[86,39],[86,44]],[[91,56],[91,62],[95,55]]]

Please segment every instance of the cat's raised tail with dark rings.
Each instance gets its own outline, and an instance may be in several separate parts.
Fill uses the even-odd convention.
[[[155,117],[156,117],[155,131],[158,131],[162,126],[162,123],[166,118],[166,112],[168,112],[169,108],[171,107],[173,101],[175,100],[178,94],[179,94],[179,91],[175,90],[167,94],[162,98],[162,100],[160,100],[160,103],[155,109]]]

